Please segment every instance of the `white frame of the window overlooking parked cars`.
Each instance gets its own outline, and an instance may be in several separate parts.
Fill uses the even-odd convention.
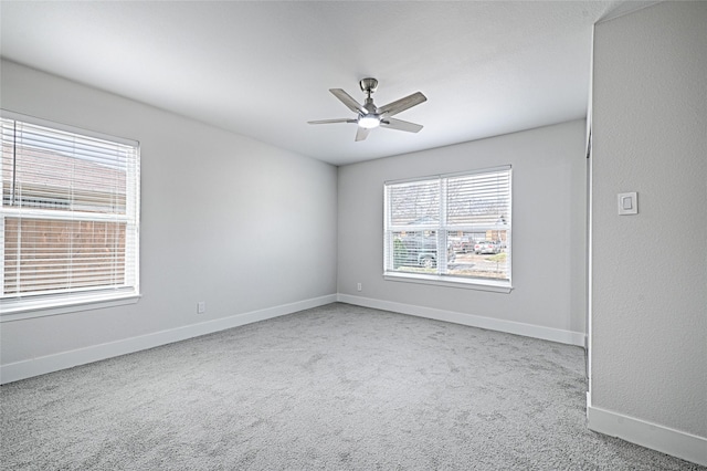
[[[490,228],[485,226],[450,226],[446,221],[446,181],[450,178],[454,177],[464,177],[472,175],[482,175],[482,174],[493,174],[498,171],[508,171],[508,214],[507,221],[503,227],[503,230],[506,231],[506,253],[507,253],[507,280],[494,280],[490,278],[471,278],[471,276],[458,276],[446,273],[446,250],[437,250],[436,252],[436,265],[437,273],[411,273],[405,271],[397,271],[393,268],[393,232],[410,229],[409,227],[403,226],[393,226],[391,222],[391,201],[389,201],[389,191],[388,188],[392,186],[405,185],[405,184],[415,184],[415,182],[433,182],[439,181],[439,214],[436,221],[431,221],[429,224],[415,224],[413,228],[418,230],[429,230],[434,231],[436,234],[436,248],[446,248],[447,247],[447,231],[468,231],[474,232],[479,229],[484,230],[498,230],[498,228]],[[431,284],[439,286],[449,286],[449,287],[463,287],[463,289],[472,289],[472,290],[481,290],[481,291],[492,291],[497,293],[510,293],[513,291],[513,279],[511,279],[511,242],[513,242],[513,169],[511,166],[500,166],[493,168],[484,168],[478,170],[471,170],[464,172],[455,172],[455,174],[445,174],[445,175],[434,175],[426,176],[414,179],[405,179],[405,180],[391,180],[386,181],[383,185],[383,279],[387,281],[394,282],[409,282],[409,283],[422,283],[422,284]]]

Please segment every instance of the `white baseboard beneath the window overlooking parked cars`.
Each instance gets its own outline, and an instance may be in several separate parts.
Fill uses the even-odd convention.
[[[401,314],[409,314],[419,317],[434,318],[437,321],[452,322],[455,324],[468,325],[471,327],[487,328],[508,334],[523,335],[525,337],[541,338],[544,341],[558,342],[561,344],[584,346],[584,334],[581,332],[562,331],[559,328],[542,327],[540,325],[524,324],[520,322],[504,321],[493,317],[484,317],[473,314],[463,314],[453,311],[435,310],[411,304],[395,303],[391,301],[373,300],[370,297],[352,296],[350,294],[337,295],[341,303],[355,304],[358,306],[373,307],[383,311],[392,311]]]

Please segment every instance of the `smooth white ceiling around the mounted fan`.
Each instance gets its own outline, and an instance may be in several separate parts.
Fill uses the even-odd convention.
[[[3,57],[335,165],[584,117],[592,24],[650,2],[138,1],[0,3]],[[329,88],[381,106],[373,129]]]

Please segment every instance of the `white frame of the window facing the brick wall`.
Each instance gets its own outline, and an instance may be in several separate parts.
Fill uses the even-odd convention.
[[[72,133],[89,138],[97,138],[110,143],[117,143],[135,148],[136,158],[133,168],[134,178],[126,179],[126,213],[116,214],[82,214],[81,211],[73,213],[73,220],[91,220],[91,221],[125,221],[135,227],[135,236],[127,237],[125,241],[126,282],[122,287],[95,287],[74,291],[61,294],[42,294],[28,293],[23,295],[14,295],[4,293],[4,223],[6,217],[21,216],[21,210],[2,206],[0,209],[0,261],[3,266],[0,270],[0,322],[17,321],[31,317],[40,317],[46,315],[72,313],[77,311],[95,310],[103,307],[112,307],[118,305],[134,304],[140,297],[139,282],[139,226],[140,226],[140,146],[137,140],[126,139],[122,137],[109,136],[103,133],[86,130],[74,126],[59,124],[46,119],[27,116],[19,113],[0,109],[2,118],[22,122],[31,125],[43,126],[61,132]],[[2,195],[3,181],[0,179],[0,198]],[[70,220],[61,214],[65,211],[56,210],[32,210],[32,218]],[[27,216],[25,216],[27,217]],[[131,260],[128,257],[131,254]]]

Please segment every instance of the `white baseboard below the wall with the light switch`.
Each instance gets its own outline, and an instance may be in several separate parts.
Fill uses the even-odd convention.
[[[587,419],[589,429],[595,432],[707,465],[707,438],[593,406],[587,407]]]

